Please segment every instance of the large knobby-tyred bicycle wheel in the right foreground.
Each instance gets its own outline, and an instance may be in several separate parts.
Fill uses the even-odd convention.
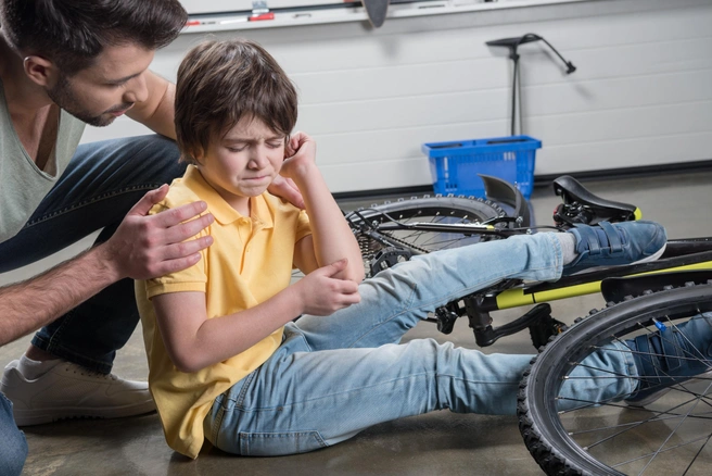
[[[691,284],[690,284],[691,285]],[[562,397],[587,355],[620,359],[621,348],[603,346],[668,327],[712,311],[712,283],[668,289],[611,304],[554,338],[532,360],[519,392],[519,426],[530,452],[550,475],[709,474],[712,464],[712,380],[676,384],[646,408],[628,406],[627,394],[610,400]],[[712,322],[712,314],[704,314]],[[711,329],[712,330],[712,329]],[[707,349],[702,350],[708,355]],[[624,350],[625,352],[625,350]],[[588,361],[588,363],[590,360]],[[708,368],[712,362],[703,361]],[[585,368],[584,368],[585,367]],[[630,377],[609,373],[586,377],[592,387]],[[595,380],[598,378],[598,380]],[[606,380],[609,379],[609,380]],[[583,381],[578,380],[583,384]],[[568,408],[568,409],[564,409]]]

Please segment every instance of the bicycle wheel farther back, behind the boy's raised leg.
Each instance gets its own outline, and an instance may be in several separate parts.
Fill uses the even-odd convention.
[[[382,224],[393,221],[400,223],[480,224],[506,215],[505,210],[496,203],[474,197],[412,198],[359,209],[357,212],[358,215],[352,215],[351,220],[366,263],[369,263],[377,253],[389,248],[389,245],[384,245],[372,236],[358,230],[357,227],[361,217],[368,220],[371,225],[373,225],[373,222]],[[378,230],[378,234],[386,236],[389,241],[408,248],[416,253],[429,253],[496,238],[494,236],[467,236],[459,233],[421,230]]]

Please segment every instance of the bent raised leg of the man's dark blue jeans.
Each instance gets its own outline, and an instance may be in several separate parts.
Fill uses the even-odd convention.
[[[0,272],[46,258],[103,228],[107,240],[147,191],[186,170],[178,148],[152,135],[81,145],[25,227],[0,243]],[[123,279],[40,329],[33,345],[89,369],[111,372],[139,321],[134,281]]]

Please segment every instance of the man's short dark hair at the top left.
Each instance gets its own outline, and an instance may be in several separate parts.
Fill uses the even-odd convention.
[[[13,48],[53,61],[67,76],[107,46],[162,48],[187,18],[178,0],[0,0],[0,24]]]

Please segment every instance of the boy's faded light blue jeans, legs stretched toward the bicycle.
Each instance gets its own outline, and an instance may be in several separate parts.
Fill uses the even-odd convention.
[[[485,355],[431,339],[398,342],[429,311],[504,278],[558,279],[561,260],[558,239],[537,234],[417,256],[384,271],[361,284],[360,303],[289,324],[277,352],[216,399],[205,435],[230,453],[280,455],[434,410],[513,414],[531,355]],[[589,359],[597,360],[592,367],[637,376],[630,352]],[[635,378],[608,386],[574,381],[564,391],[589,399],[625,396],[636,385]]]

